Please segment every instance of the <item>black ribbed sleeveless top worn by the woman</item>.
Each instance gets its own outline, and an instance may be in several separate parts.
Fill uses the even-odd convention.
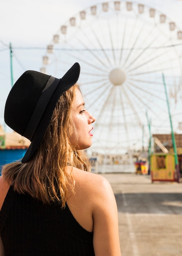
[[[93,233],[79,225],[68,205],[43,204],[10,186],[0,211],[6,256],[94,256]]]

